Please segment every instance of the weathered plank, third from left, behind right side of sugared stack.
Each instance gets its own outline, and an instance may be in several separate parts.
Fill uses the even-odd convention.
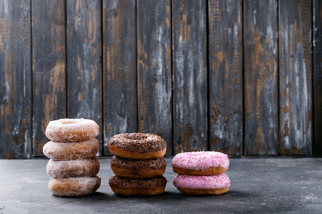
[[[67,1],[67,116],[94,120],[102,155],[101,1]]]

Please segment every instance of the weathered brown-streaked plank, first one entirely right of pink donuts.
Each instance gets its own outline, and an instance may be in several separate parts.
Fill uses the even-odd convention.
[[[277,1],[244,1],[246,155],[278,154],[277,35]]]

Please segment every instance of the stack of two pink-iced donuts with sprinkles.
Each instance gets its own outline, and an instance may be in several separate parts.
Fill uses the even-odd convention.
[[[172,169],[178,173],[173,184],[186,194],[223,194],[230,187],[230,180],[223,173],[228,166],[228,155],[221,152],[178,153],[172,159]]]

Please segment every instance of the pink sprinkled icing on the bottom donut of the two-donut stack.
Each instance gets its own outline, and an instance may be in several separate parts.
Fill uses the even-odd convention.
[[[222,189],[230,187],[230,179],[224,173],[213,176],[177,174],[173,179],[173,185],[185,189]]]

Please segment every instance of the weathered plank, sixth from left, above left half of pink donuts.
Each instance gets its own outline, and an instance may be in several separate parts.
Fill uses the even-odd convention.
[[[207,150],[206,1],[172,1],[173,148]]]

